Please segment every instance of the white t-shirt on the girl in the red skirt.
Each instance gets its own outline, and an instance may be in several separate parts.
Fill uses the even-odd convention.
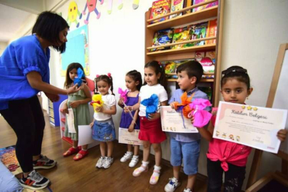
[[[149,85],[144,85],[140,89],[139,97],[141,97],[141,101],[148,99],[151,97],[151,95],[157,95],[159,98],[159,103],[158,103],[158,112],[160,111],[160,102],[164,102],[168,100],[168,95],[164,87],[160,84],[149,86]],[[139,116],[144,117],[146,116],[146,106],[140,105],[139,109]]]

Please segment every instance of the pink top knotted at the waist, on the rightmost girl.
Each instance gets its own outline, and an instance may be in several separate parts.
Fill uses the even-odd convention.
[[[214,110],[217,110],[217,108],[213,108],[212,111]],[[213,115],[211,118],[213,126],[215,126],[215,119],[216,115]],[[223,170],[228,171],[227,163],[235,166],[246,166],[247,158],[251,150],[252,148],[250,146],[213,138],[209,143],[207,157],[211,161],[221,161],[221,167]]]

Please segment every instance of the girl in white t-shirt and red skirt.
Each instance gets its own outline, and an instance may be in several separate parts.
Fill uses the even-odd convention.
[[[164,68],[161,68],[158,61],[151,61],[146,63],[144,67],[144,86],[141,87],[139,94],[139,102],[136,105],[124,107],[125,112],[128,110],[139,110],[140,116],[140,132],[139,139],[143,140],[143,161],[142,165],[135,169],[133,176],[140,176],[143,171],[148,171],[150,146],[152,144],[155,151],[154,172],[150,178],[150,184],[154,185],[158,182],[160,176],[160,162],[161,162],[161,142],[166,139],[166,134],[162,132],[161,119],[159,108],[167,105],[167,92],[166,92],[166,77]],[[158,110],[154,114],[149,114],[149,119],[146,118],[146,107],[140,102],[145,100],[151,95],[157,95],[159,98]]]

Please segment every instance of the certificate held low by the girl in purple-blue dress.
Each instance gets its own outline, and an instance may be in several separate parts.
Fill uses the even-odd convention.
[[[143,142],[138,139],[139,129],[134,129],[134,132],[128,132],[127,128],[119,127],[119,143],[143,145]]]

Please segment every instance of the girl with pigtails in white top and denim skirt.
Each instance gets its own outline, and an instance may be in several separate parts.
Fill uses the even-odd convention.
[[[97,168],[108,169],[113,163],[113,141],[116,139],[115,127],[112,114],[116,114],[116,99],[113,93],[113,82],[110,73],[108,75],[100,75],[95,80],[96,91],[102,95],[104,104],[102,107],[96,107],[97,112],[94,113],[94,121],[90,124],[92,138],[100,141],[101,156],[97,161]],[[112,94],[109,93],[109,89]],[[107,156],[106,156],[107,144]]]

